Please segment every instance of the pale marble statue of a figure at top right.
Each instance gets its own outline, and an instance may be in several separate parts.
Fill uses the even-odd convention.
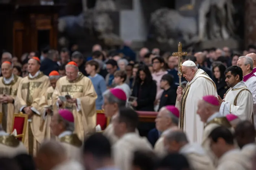
[[[232,0],[204,0],[199,8],[199,41],[204,41],[207,37],[206,14],[209,12],[209,39],[217,38],[226,40],[230,38],[230,35],[233,34],[235,29],[232,17],[234,12]],[[219,21],[220,24],[218,24],[217,21]]]

